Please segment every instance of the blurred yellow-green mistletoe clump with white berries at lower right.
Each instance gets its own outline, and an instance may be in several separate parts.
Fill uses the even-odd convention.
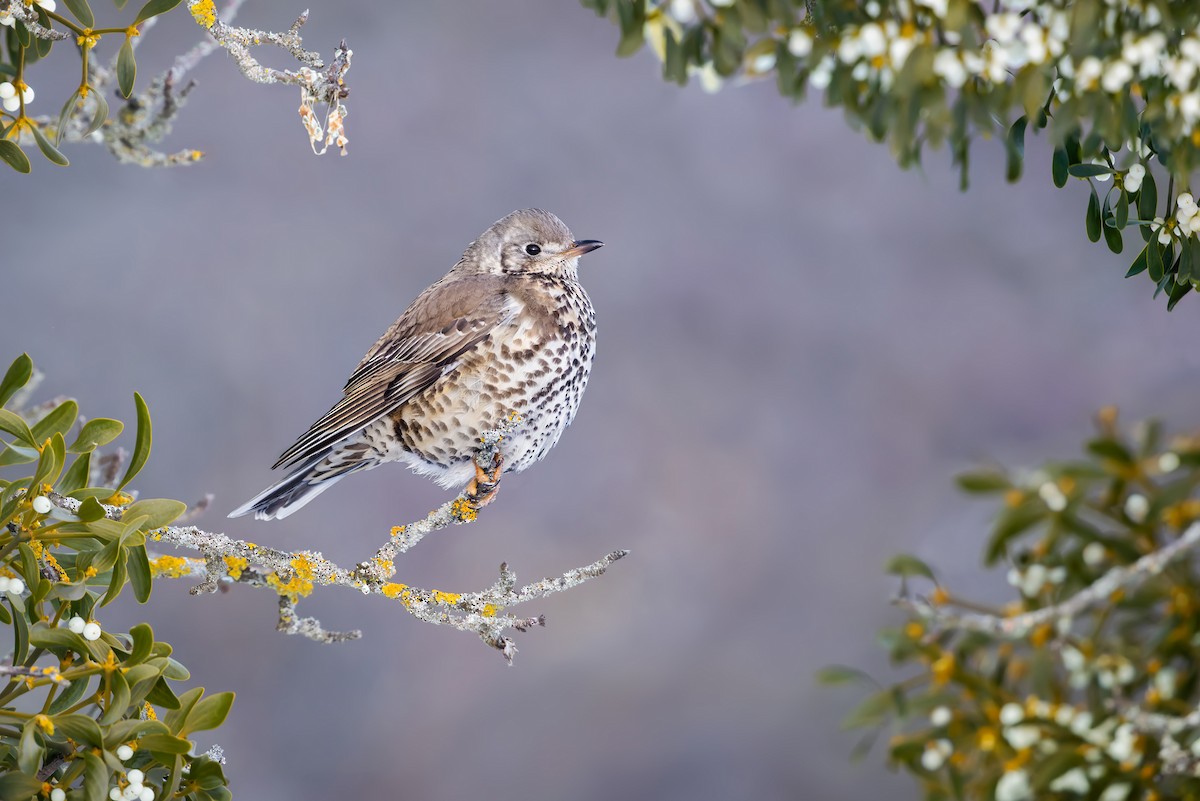
[[[1009,565],[1016,595],[991,609],[936,585],[929,601],[950,615],[1013,619],[1072,598],[1200,519],[1200,436],[1164,444],[1157,422],[1123,435],[1110,409],[1084,459],[973,472],[959,483],[998,496],[984,561]],[[1177,559],[1128,592],[1020,637],[911,614],[878,642],[912,675],[872,692],[846,727],[890,729],[889,763],[931,800],[1198,797],[1200,778],[1164,765],[1154,734],[1169,733],[1184,754],[1200,748],[1198,567]],[[908,555],[889,572],[934,578]],[[821,677],[871,681],[850,668]]]

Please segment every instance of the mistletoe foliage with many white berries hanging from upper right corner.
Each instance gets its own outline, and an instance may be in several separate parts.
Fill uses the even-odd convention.
[[[1200,4],[1166,0],[582,0],[649,44],[667,80],[773,78],[886,141],[902,167],[947,145],[967,186],[972,143],[994,138],[1015,181],[1030,130],[1055,144],[1057,186],[1086,180],[1088,239],[1141,237],[1168,307],[1200,283]],[[1157,179],[1156,179],[1157,174]],[[1145,242],[1145,245],[1142,245]]]

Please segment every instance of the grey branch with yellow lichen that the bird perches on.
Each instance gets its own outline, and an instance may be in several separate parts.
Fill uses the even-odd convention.
[[[475,459],[481,466],[493,464],[499,442],[508,433],[508,429],[502,428],[485,434],[475,453]],[[484,494],[493,488],[482,488]],[[80,501],[58,493],[50,493],[49,499],[60,510],[71,514],[77,513],[82,506]],[[275,592],[280,607],[277,628],[288,634],[302,634],[322,643],[340,643],[361,637],[361,632],[358,631],[329,631],[319,620],[300,616],[296,612],[300,600],[308,596],[317,586],[343,586],[362,595],[396,601],[418,620],[474,632],[485,643],[499,650],[511,663],[517,649],[506,632],[509,630],[523,632],[533,626],[541,626],[545,619],[541,615],[512,615],[506,612],[509,608],[563,592],[602,576],[610,565],[629,552],[614,550],[590,565],[523,586],[517,586],[516,574],[508,565],[500,565],[496,583],[475,592],[448,592],[391,580],[396,573],[396,556],[409,550],[427,534],[474,522],[479,510],[480,504],[476,499],[462,493],[430,512],[424,519],[395,526],[388,542],[371,559],[353,568],[340,567],[319,552],[276,550],[244,540],[233,540],[224,534],[204,531],[194,525],[168,525],[155,530],[150,540],[199,554],[198,556],[158,554],[151,556],[150,564],[157,576],[199,579],[199,583],[191,589],[192,594],[212,592],[222,583],[265,588]],[[121,506],[104,506],[104,514],[109,519],[119,520],[122,513]]]

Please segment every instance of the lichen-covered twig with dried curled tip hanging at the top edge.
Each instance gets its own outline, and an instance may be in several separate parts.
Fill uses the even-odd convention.
[[[330,145],[337,145],[338,151],[346,155],[347,112],[342,101],[349,95],[346,72],[350,68],[354,52],[346,46],[344,40],[335,48],[334,59],[326,66],[319,54],[304,48],[300,28],[308,20],[307,11],[288,30],[274,32],[235,28],[222,22],[212,0],[187,0],[187,8],[196,22],[209,31],[212,41],[233,56],[244,76],[259,84],[292,84],[300,88],[300,119],[314,153],[324,153]],[[264,66],[251,52],[251,48],[259,44],[274,44],[287,50],[300,62],[300,68],[276,70]],[[316,107],[322,103],[326,107],[324,121],[316,113]]]

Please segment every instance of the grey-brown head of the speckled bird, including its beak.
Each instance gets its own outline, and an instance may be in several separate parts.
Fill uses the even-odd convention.
[[[521,209],[496,221],[463,254],[460,267],[494,275],[576,277],[580,257],[604,245],[576,240],[562,219],[541,209]]]

